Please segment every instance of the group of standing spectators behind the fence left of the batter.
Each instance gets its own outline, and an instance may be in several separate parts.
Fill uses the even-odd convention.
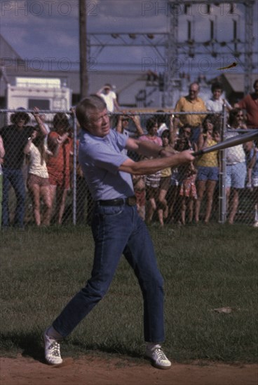
[[[48,226],[51,221],[61,224],[69,189],[69,157],[72,155],[69,120],[64,113],[56,113],[53,130],[49,132],[39,109],[34,108],[34,125],[30,123],[29,114],[22,110],[13,113],[12,124],[0,130],[2,227],[24,228],[27,193],[32,198],[36,225]],[[14,218],[9,212],[11,186],[16,198]]]

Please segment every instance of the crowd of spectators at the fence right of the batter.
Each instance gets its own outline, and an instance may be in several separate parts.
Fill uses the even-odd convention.
[[[140,140],[153,141],[167,150],[169,148],[171,153],[188,148],[198,151],[222,139],[223,106],[228,116],[224,139],[238,135],[243,130],[258,129],[258,80],[253,87],[254,92],[243,99],[245,102],[231,106],[222,97],[221,83],[212,84],[212,97],[206,103],[198,97],[198,83],[192,83],[189,94],[178,100],[175,116],[170,114],[165,118],[163,111],[158,110],[156,112],[159,114],[154,114],[146,121],[142,129],[144,134],[140,134],[139,127],[137,134],[140,134]],[[241,109],[239,106],[243,103],[245,108]],[[251,106],[251,115],[248,106]],[[204,111],[214,114],[205,115]],[[183,114],[177,115],[177,112]],[[247,118],[248,114],[252,119]],[[254,202],[254,226],[258,227],[257,158],[257,141],[226,149],[226,210],[229,224],[236,221],[240,195],[248,187]],[[218,215],[220,167],[219,153],[215,151],[198,157],[187,168],[180,166],[135,178],[135,195],[142,218],[147,223],[155,223],[156,220],[161,226],[165,222],[197,224],[200,222],[201,204],[205,201],[203,223],[208,224],[212,212]]]

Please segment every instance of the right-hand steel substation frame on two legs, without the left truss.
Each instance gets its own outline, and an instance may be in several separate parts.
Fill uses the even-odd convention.
[[[225,38],[223,41],[218,41],[216,36],[216,20],[210,19],[210,39],[208,41],[196,42],[192,35],[192,21],[188,20],[188,36],[187,41],[182,44],[178,37],[178,24],[180,15],[187,15],[192,6],[199,6],[198,10],[205,12],[205,15],[210,15],[212,6],[219,7],[221,13],[227,13],[228,15],[234,15],[235,4],[242,4],[245,8],[245,40],[242,41],[238,38],[238,21],[233,19],[233,39]],[[205,6],[206,9],[203,10]],[[225,7],[227,6],[227,8]],[[180,55],[185,55],[185,48],[188,48],[189,57],[194,57],[195,54],[201,55],[201,52],[196,52],[205,47],[205,55],[210,57],[217,57],[217,55],[223,55],[223,52],[231,52],[233,57],[238,59],[238,62],[242,64],[245,77],[244,77],[244,92],[247,94],[252,90],[252,55],[253,55],[253,6],[254,0],[226,0],[226,1],[215,1],[206,0],[203,3],[202,0],[185,0],[177,2],[175,0],[169,0],[169,13],[170,13],[170,31],[168,34],[167,52],[166,57],[168,58],[168,73],[165,76],[165,100],[168,106],[174,105],[172,89],[175,87],[177,81],[177,69],[175,64],[175,58]],[[184,9],[182,10],[182,7]],[[186,47],[185,44],[186,43]]]

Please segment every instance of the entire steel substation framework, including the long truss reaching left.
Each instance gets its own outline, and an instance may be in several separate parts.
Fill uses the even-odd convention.
[[[158,1],[154,3],[155,6],[159,6]],[[158,68],[158,71],[161,69],[163,72],[163,107],[171,107],[176,102],[173,100],[173,89],[178,90],[181,84],[179,78],[180,61],[181,63],[186,59],[193,61],[196,57],[205,56],[213,59],[217,57],[217,59],[222,60],[220,64],[229,64],[229,62],[225,63],[224,59],[229,58],[230,55],[231,59],[233,58],[243,68],[244,92],[245,94],[249,93],[252,90],[252,71],[254,68],[252,57],[254,53],[253,15],[255,0],[168,0],[164,3],[167,5],[168,32],[88,34],[89,57],[91,48],[95,49],[96,59],[107,47],[149,46],[156,53],[155,63],[153,60],[152,64]],[[244,20],[240,20],[240,15],[235,13],[236,4],[241,5],[244,9]],[[219,13],[219,15],[214,13]],[[197,41],[194,36],[194,26],[195,20],[198,20],[200,15],[205,16],[206,27],[203,30],[202,38]],[[232,24],[233,34],[232,36],[223,36],[223,39],[219,40],[217,38],[217,25],[219,16],[223,15],[230,16],[226,22]],[[182,16],[184,16],[183,21]],[[184,30],[187,31],[187,38],[184,41],[179,39],[179,28],[182,27],[182,22],[184,22]],[[240,37],[239,25],[242,22],[244,22],[245,29],[244,38]],[[204,40],[203,36],[209,35],[209,29],[210,36]],[[158,65],[156,65],[157,62]],[[148,64],[148,62],[144,64]],[[146,69],[146,67],[144,68]]]

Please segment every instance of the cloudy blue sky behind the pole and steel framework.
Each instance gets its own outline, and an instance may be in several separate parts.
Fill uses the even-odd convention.
[[[254,6],[254,49],[257,51],[257,9]],[[170,8],[167,1],[142,0],[93,0],[87,1],[88,33],[167,33],[170,22]],[[208,41],[210,38],[210,20],[215,22],[215,37],[218,41],[233,38],[233,20],[238,26],[238,38],[244,38],[243,6],[236,6],[233,15],[229,13],[229,5],[212,5],[207,15],[204,5],[194,5],[184,15],[179,8],[179,41],[186,47],[187,22],[191,22],[192,34],[196,41]],[[6,38],[18,54],[27,59],[62,61],[66,58],[71,63],[79,60],[79,1],[1,1],[1,34]],[[156,38],[156,36],[155,36]],[[154,41],[156,41],[154,38]],[[112,38],[108,37],[109,41]],[[128,39],[128,38],[127,38]],[[130,39],[129,39],[130,40]],[[114,43],[114,39],[112,41]],[[186,47],[187,48],[187,47]],[[205,48],[203,48],[205,50]],[[162,49],[161,49],[162,51]],[[147,47],[104,48],[99,54],[92,48],[90,56],[95,61],[96,69],[142,69],[142,63],[149,58],[149,69],[156,70],[161,61],[155,50]],[[51,58],[51,59],[49,59]],[[200,66],[200,61],[207,63]],[[190,60],[188,48],[182,61],[184,71],[201,71],[214,76],[220,64],[235,60],[229,52],[222,61],[221,52],[216,58],[205,54]],[[241,59],[241,57],[240,57]],[[257,65],[257,54],[254,55]],[[190,66],[190,64],[193,64]],[[159,65],[158,65],[159,66]],[[147,66],[145,69],[148,69]],[[243,71],[239,62],[237,69]],[[206,74],[207,74],[206,73]]]

